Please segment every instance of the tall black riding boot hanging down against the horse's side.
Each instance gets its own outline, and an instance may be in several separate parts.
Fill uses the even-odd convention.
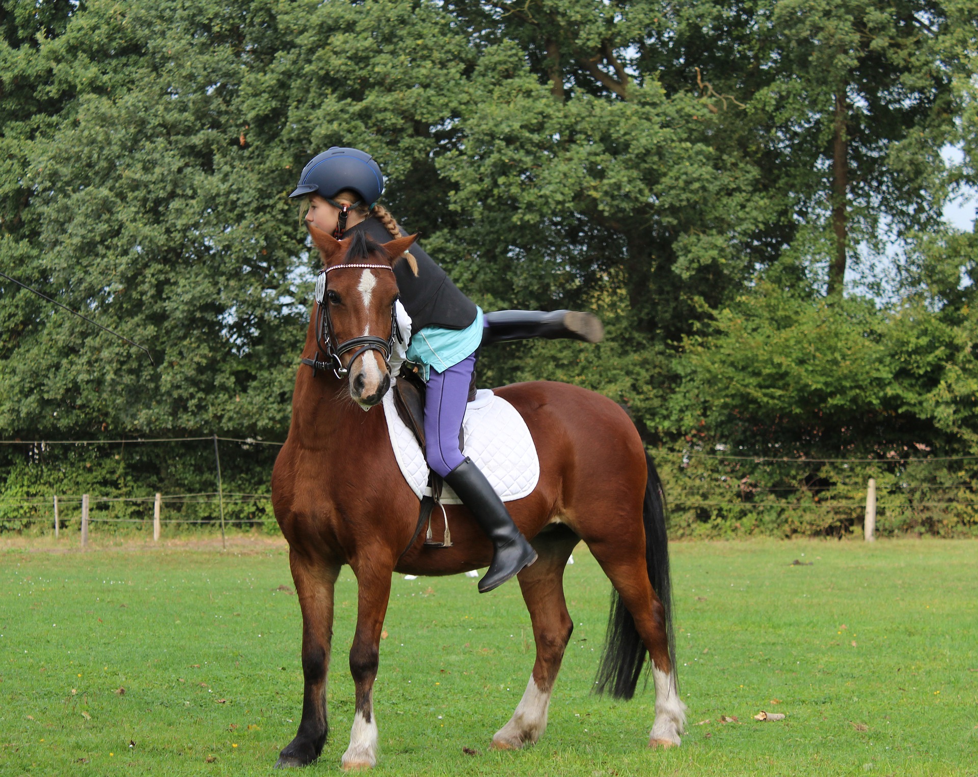
[[[503,500],[468,456],[445,476],[445,482],[462,499],[475,523],[495,547],[489,571],[479,581],[479,593],[506,583],[523,567],[537,560],[537,551],[519,533]]]

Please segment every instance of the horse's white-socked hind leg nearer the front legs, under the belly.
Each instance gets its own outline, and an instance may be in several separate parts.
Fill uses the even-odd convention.
[[[579,538],[563,526],[541,533],[532,541],[539,555],[537,562],[517,576],[530,611],[537,660],[516,711],[492,739],[494,748],[514,750],[532,745],[547,728],[547,709],[556,673],[574,629],[563,598],[563,570],[578,541]]]

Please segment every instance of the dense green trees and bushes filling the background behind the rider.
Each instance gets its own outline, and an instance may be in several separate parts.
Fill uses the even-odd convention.
[[[315,266],[286,194],[353,145],[485,309],[605,320],[597,348],[486,349],[488,383],[586,385],[669,450],[971,453],[975,242],[939,213],[975,181],[973,12],[0,0],[0,270],[153,354],[3,281],[0,435],[284,439]],[[908,251],[889,296],[829,305],[841,94],[850,247],[891,225]],[[23,455],[0,452],[10,494],[60,487],[53,453]],[[185,459],[174,488],[196,491]],[[103,463],[88,488],[124,491]],[[126,477],[149,493],[164,470]]]

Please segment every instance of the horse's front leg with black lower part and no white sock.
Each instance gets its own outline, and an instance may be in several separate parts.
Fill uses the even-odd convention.
[[[339,565],[311,563],[294,552],[289,566],[302,610],[302,718],[295,738],[279,755],[279,768],[305,766],[319,757],[329,733],[326,692],[333,638],[333,584]]]

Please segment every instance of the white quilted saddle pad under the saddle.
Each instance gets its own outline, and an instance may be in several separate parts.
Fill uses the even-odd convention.
[[[428,480],[422,447],[397,414],[393,391],[384,395],[382,405],[394,457],[404,479],[420,499]],[[526,421],[509,402],[488,389],[479,389],[475,399],[468,403],[463,428],[466,431],[463,453],[482,470],[503,501],[521,499],[533,492],[540,480],[540,458]],[[445,504],[462,503],[447,485],[441,500]]]

